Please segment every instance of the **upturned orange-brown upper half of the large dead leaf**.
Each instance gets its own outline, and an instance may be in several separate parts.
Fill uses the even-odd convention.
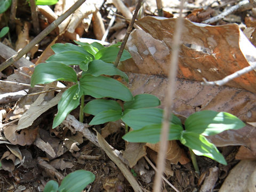
[[[134,63],[127,60],[122,69],[167,76],[175,19],[145,17],[137,25],[148,34],[133,31],[127,48]],[[256,61],[256,48],[236,24],[209,26],[184,20],[180,49],[178,77],[193,81],[202,81],[203,77],[219,80]],[[227,85],[256,92],[255,83],[255,71],[251,71]]]

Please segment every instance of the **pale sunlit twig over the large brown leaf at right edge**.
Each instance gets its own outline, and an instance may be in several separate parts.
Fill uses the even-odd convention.
[[[256,68],[256,62],[253,62],[253,64],[251,64],[251,66],[248,66],[248,67],[245,67],[245,68],[243,68],[239,71],[236,71],[235,73],[233,73],[231,75],[228,75],[228,76],[226,76],[223,79],[218,80],[218,81],[209,82],[205,78],[203,78],[204,82],[201,82],[201,85],[219,85],[219,86],[221,86],[221,85],[224,85],[224,84],[228,83],[229,81],[231,81],[234,78],[237,78],[237,77],[240,77],[241,75],[249,73],[250,71],[252,71],[255,68]]]

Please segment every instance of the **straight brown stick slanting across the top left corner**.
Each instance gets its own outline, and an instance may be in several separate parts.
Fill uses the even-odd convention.
[[[28,53],[32,47],[39,43],[44,37],[46,37],[53,29],[58,27],[60,23],[65,20],[70,14],[72,14],[79,6],[81,6],[86,0],[78,0],[73,6],[71,6],[65,13],[60,15],[60,17],[53,21],[50,26],[45,28],[39,35],[37,35],[29,44],[27,44],[18,54],[13,55],[11,58],[7,59],[0,65],[0,71],[4,70],[6,67],[9,67],[15,61],[18,61],[23,55]]]

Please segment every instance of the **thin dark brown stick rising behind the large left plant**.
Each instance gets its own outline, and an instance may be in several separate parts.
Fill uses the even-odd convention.
[[[139,9],[140,9],[141,2],[142,2],[142,0],[139,0],[139,1],[138,1],[138,4],[137,4],[136,9],[135,9],[135,11],[134,11],[132,20],[131,20],[131,22],[130,22],[130,24],[129,24],[127,30],[126,30],[126,34],[125,34],[125,36],[124,36],[122,45],[121,45],[121,47],[120,47],[120,50],[119,50],[119,52],[118,52],[118,54],[117,54],[117,57],[116,57],[116,61],[115,61],[115,63],[114,63],[115,66],[118,66],[118,63],[119,63],[119,61],[120,61],[120,59],[121,59],[121,56],[122,56],[122,54],[123,54],[123,51],[124,51],[124,47],[125,47],[125,45],[126,45],[126,43],[127,43],[128,37],[129,37],[129,35],[130,35],[131,32],[132,32],[132,27],[133,27],[133,24],[134,24],[134,22],[135,22],[135,19],[137,18],[137,14],[138,14],[138,11],[139,11]]]

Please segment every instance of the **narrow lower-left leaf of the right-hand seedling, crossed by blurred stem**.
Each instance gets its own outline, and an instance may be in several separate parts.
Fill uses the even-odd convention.
[[[157,143],[160,140],[162,124],[151,124],[139,130],[130,131],[123,136],[123,139],[129,142],[149,142]],[[179,140],[183,131],[182,126],[170,124],[169,140]]]

